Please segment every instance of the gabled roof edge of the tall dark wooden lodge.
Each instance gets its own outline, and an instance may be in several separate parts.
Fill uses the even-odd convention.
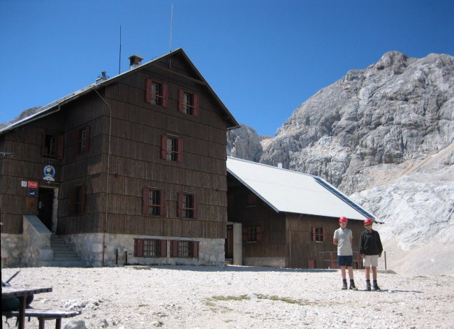
[[[57,99],[57,101],[53,101],[52,103],[49,103],[49,104],[39,108],[38,110],[36,110],[36,112],[34,112],[33,115],[30,115],[29,117],[25,117],[24,119],[21,119],[21,120],[19,120],[17,122],[14,122],[13,124],[10,124],[10,125],[4,127],[3,129],[0,129],[0,135],[2,135],[3,133],[6,133],[7,131],[15,129],[18,126],[22,126],[23,124],[27,124],[27,122],[31,122],[31,121],[34,121],[36,119],[40,119],[41,117],[45,117],[46,115],[50,115],[53,112],[57,112],[57,111],[60,110],[61,105],[64,105],[64,104],[69,103],[71,101],[74,101],[75,99],[78,99],[81,96],[83,96],[83,95],[85,95],[85,94],[87,94],[89,92],[92,92],[94,89],[101,89],[102,87],[108,86],[108,85],[112,84],[113,82],[115,82],[115,81],[117,81],[117,80],[119,80],[121,78],[126,77],[127,75],[131,75],[133,73],[141,71],[142,69],[144,69],[147,66],[150,66],[150,65],[152,65],[154,63],[156,63],[157,61],[161,61],[163,59],[166,59],[166,57],[173,57],[173,56],[176,56],[176,55],[180,55],[180,56],[182,56],[184,58],[184,60],[187,62],[187,64],[191,68],[192,74],[197,77],[197,80],[200,80],[200,83],[207,88],[208,92],[210,92],[210,94],[214,97],[214,99],[219,103],[220,109],[224,112],[224,116],[223,116],[224,119],[226,119],[226,121],[229,122],[229,125],[230,125],[229,128],[234,128],[234,127],[240,126],[240,124],[236,121],[236,119],[233,117],[233,115],[228,111],[228,109],[226,108],[224,103],[222,103],[221,99],[217,96],[216,93],[214,93],[214,91],[210,87],[210,85],[208,85],[208,82],[200,74],[200,72],[198,71],[196,66],[194,66],[194,64],[189,59],[189,57],[187,57],[187,55],[184,52],[184,50],[182,50],[182,48],[179,48],[179,49],[174,50],[173,52],[169,52],[168,54],[165,54],[165,55],[163,55],[161,57],[158,57],[156,59],[152,59],[152,61],[149,61],[149,62],[147,62],[145,64],[140,65],[140,66],[137,66],[136,68],[133,68],[133,69],[131,69],[129,71],[126,71],[124,73],[116,75],[113,78],[110,78],[108,80],[101,80],[101,82],[97,82],[97,83],[95,82],[95,83],[93,83],[91,85],[88,85],[87,87],[83,87],[82,89],[79,89],[76,92],[73,92],[73,93],[68,94],[68,95],[66,95],[64,97],[61,97],[61,98]]]

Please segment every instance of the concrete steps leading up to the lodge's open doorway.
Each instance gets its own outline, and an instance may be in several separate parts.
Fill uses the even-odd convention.
[[[85,267],[85,263],[75,253],[65,240],[58,235],[50,235],[50,248],[54,251],[54,258],[50,261],[39,261],[39,266],[54,266],[61,268]]]

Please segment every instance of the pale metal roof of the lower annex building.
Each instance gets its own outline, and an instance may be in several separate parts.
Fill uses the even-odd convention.
[[[276,212],[374,219],[321,177],[230,156],[227,171]]]

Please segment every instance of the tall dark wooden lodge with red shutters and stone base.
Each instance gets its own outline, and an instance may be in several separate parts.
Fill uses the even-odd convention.
[[[182,49],[130,61],[0,130],[3,265],[224,263],[239,124]]]

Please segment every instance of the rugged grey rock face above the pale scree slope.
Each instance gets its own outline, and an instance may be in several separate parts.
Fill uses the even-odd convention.
[[[387,52],[297,108],[262,163],[328,179],[346,193],[372,187],[365,168],[417,161],[454,140],[454,57]]]

